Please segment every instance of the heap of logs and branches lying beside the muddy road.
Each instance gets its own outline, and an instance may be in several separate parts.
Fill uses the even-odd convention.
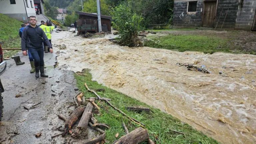
[[[106,133],[103,129],[109,129],[110,127],[107,124],[104,123],[98,123],[98,121],[93,117],[93,108],[100,109],[97,104],[95,103],[95,100],[101,100],[105,101],[107,104],[109,104],[111,107],[113,107],[115,110],[126,116],[128,119],[130,119],[132,122],[140,125],[139,128],[129,132],[125,123],[123,122],[122,125],[124,127],[124,131],[126,135],[122,136],[118,140],[116,140],[113,144],[138,144],[140,142],[148,141],[148,144],[154,144],[154,142],[149,138],[148,131],[145,129],[144,124],[137,121],[134,118],[129,117],[126,115],[124,112],[121,110],[117,109],[114,107],[109,101],[111,99],[107,98],[101,98],[95,91],[90,90],[85,83],[85,86],[89,92],[94,93],[97,97],[92,97],[85,99],[83,93],[77,94],[74,97],[74,101],[78,107],[72,112],[72,114],[68,117],[65,118],[63,115],[58,115],[60,119],[65,121],[65,127],[64,129],[60,129],[58,127],[57,129],[60,131],[63,131],[60,134],[52,136],[52,138],[56,136],[65,136],[67,133],[70,133],[72,137],[79,136],[83,131],[87,131],[88,125],[92,129],[98,131],[101,135],[93,138],[89,141],[85,141],[84,144],[94,144],[94,143],[101,143],[101,141],[104,141],[106,137]],[[78,103],[76,102],[76,99]],[[87,104],[86,104],[87,103]],[[79,106],[80,105],[80,106]],[[85,106],[86,105],[86,106]],[[128,110],[135,110],[135,111],[150,111],[148,108],[142,108],[142,107],[127,107]],[[81,117],[75,132],[72,132],[71,129],[74,126],[74,124],[78,121],[78,119]]]

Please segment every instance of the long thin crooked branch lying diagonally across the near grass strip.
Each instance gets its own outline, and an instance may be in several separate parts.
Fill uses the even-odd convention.
[[[138,124],[139,126],[145,128],[145,126],[144,126],[143,123],[139,122],[138,120],[136,120],[136,119],[134,119],[134,118],[129,117],[129,116],[126,115],[123,111],[121,111],[120,109],[118,109],[118,108],[116,108],[115,106],[113,106],[108,100],[101,98],[95,91],[90,90],[90,89],[88,88],[88,86],[87,86],[86,83],[85,83],[84,85],[85,85],[85,87],[87,88],[87,90],[88,90],[89,92],[94,93],[94,94],[98,97],[99,100],[104,100],[106,103],[108,103],[108,105],[110,105],[112,108],[114,108],[115,110],[117,110],[118,112],[120,112],[121,114],[123,114],[124,116],[126,116],[126,117],[127,117],[128,119],[130,119],[132,122],[134,122],[134,123]]]

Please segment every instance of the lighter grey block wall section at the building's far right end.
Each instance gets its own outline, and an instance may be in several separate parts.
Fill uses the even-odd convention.
[[[243,6],[239,5],[235,29],[252,30],[255,16],[256,0],[244,0]]]

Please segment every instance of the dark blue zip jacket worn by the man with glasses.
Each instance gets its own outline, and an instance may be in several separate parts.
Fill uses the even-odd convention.
[[[26,47],[31,47],[34,49],[40,49],[43,47],[43,41],[47,44],[49,48],[52,48],[50,41],[45,35],[44,31],[36,25],[35,28],[28,25],[24,28],[21,38],[21,50],[25,51]]]

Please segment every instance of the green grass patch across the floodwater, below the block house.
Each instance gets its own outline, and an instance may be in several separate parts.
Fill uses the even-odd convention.
[[[167,35],[160,38],[151,37],[154,41],[148,41],[145,46],[170,50],[200,51],[204,53],[232,52],[230,40],[216,36],[200,35]]]

